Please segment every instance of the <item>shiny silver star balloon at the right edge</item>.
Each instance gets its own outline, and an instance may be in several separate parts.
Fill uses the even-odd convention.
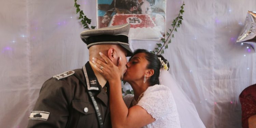
[[[247,43],[256,48],[256,12],[248,11],[242,31],[237,39],[237,43]]]

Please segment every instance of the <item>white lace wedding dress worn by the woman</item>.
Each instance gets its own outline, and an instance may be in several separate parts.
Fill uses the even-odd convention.
[[[126,106],[129,108],[133,95],[124,97]],[[164,85],[148,87],[144,96],[138,102],[147,113],[155,118],[155,122],[143,128],[181,128],[179,114],[170,89]]]

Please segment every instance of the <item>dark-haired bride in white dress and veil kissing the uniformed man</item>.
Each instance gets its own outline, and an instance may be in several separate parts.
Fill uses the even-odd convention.
[[[169,65],[165,58],[144,49],[136,50],[126,64],[127,71],[123,79],[133,88],[134,96],[127,95],[123,99],[120,82],[122,74],[119,68],[124,65],[120,61],[122,58],[118,60],[119,65],[115,66],[105,55],[102,54],[101,57],[105,62],[95,59],[93,63],[110,85],[110,113],[113,128],[204,128],[194,104],[187,100],[185,94],[178,91],[177,95],[181,96],[181,100],[186,99],[184,101],[188,103],[186,107],[191,106],[188,109],[185,107],[185,110],[183,101],[177,101],[180,99],[173,97],[170,90],[173,87],[169,84],[176,83],[170,81],[172,79],[167,71]],[[162,77],[163,75],[167,78]],[[180,88],[175,88],[174,91],[177,89]],[[176,101],[183,104],[179,104],[182,107],[180,111],[177,109]]]

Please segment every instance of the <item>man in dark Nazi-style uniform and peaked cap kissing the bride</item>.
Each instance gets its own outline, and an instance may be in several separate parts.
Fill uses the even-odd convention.
[[[124,24],[81,32],[89,61],[82,69],[54,75],[43,84],[28,128],[110,128],[109,83],[91,61],[93,57],[101,58],[101,52],[115,65],[120,58],[126,63],[126,56],[132,55],[129,29],[130,25]],[[125,65],[122,71],[124,74]]]

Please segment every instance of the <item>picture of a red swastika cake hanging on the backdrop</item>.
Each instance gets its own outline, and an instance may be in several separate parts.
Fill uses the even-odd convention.
[[[97,0],[97,27],[129,23],[129,39],[165,36],[166,0]]]

